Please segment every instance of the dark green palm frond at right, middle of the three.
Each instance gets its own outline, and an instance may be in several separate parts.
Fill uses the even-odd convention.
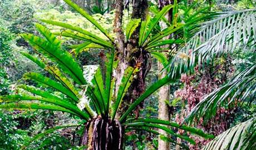
[[[256,96],[255,87],[256,64],[253,64],[200,101],[184,121],[188,121],[191,124],[199,122],[199,119],[204,117],[205,123],[215,115],[218,107],[227,106],[233,103],[236,98],[241,98],[241,101],[253,101]],[[249,95],[251,96],[248,97]]]

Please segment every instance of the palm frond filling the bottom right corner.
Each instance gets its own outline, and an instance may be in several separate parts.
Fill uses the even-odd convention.
[[[240,123],[209,142],[203,149],[255,149],[256,118]]]

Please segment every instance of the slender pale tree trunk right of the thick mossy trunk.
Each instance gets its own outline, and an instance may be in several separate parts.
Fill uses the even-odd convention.
[[[158,2],[159,4],[159,9],[161,10],[163,7],[169,5],[169,4],[173,4],[173,0],[172,1],[165,1],[165,0],[159,0]],[[165,14],[165,18],[171,23],[172,21],[172,9]],[[161,28],[164,29],[167,26],[164,26],[164,24],[162,24]],[[164,39],[170,39],[171,36],[165,37]],[[163,46],[163,48],[168,48],[169,46]],[[168,54],[165,54],[165,56],[167,57]],[[161,71],[164,68],[163,64],[161,64],[160,62],[158,62],[158,69],[159,71]],[[165,76],[168,76],[168,72],[164,71],[163,73],[159,74],[159,79],[164,78]],[[170,86],[166,85],[160,88],[159,90],[159,105],[158,105],[158,118],[161,120],[165,120],[165,121],[170,121],[170,110],[169,110],[169,106],[165,101],[170,101]],[[168,133],[166,133],[166,131],[159,129],[159,133],[163,134],[164,136],[168,137]],[[170,144],[169,142],[163,141],[159,138],[158,140],[158,149],[159,150],[166,150],[166,149],[170,149]]]

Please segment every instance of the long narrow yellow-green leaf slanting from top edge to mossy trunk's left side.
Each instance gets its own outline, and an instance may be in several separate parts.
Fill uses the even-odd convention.
[[[69,6],[71,6],[72,8],[76,9],[76,11],[80,14],[82,14],[83,17],[85,17],[88,21],[90,21],[95,27],[97,27],[107,38],[110,39],[111,42],[114,42],[114,39],[112,39],[112,37],[110,37],[109,33],[107,33],[107,31],[102,28],[100,26],[99,23],[97,23],[97,21],[95,21],[95,19],[93,19],[86,11],[84,11],[81,7],[79,7],[77,4],[73,3],[70,0],[63,0],[65,1]]]

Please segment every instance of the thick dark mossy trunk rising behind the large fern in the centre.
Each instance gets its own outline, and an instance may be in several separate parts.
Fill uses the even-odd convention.
[[[142,1],[132,1],[132,19],[145,20],[148,3],[146,0]],[[116,16],[114,21],[114,32],[116,32],[116,51],[119,52],[119,65],[116,69],[116,89],[119,89],[122,76],[124,76],[125,70],[127,67],[139,67],[139,72],[137,73],[137,78],[132,81],[131,86],[127,90],[126,96],[122,101],[121,109],[117,112],[116,119],[120,118],[120,114],[123,114],[127,108],[130,106],[130,103],[134,102],[134,99],[139,97],[145,91],[145,77],[146,73],[149,70],[150,65],[147,63],[149,59],[149,54],[138,47],[139,41],[139,27],[137,27],[132,34],[128,42],[124,42],[124,32],[121,28],[122,21],[122,11],[124,10],[124,1],[116,1]],[[117,91],[116,91],[117,93]],[[141,106],[142,107],[142,106]],[[136,109],[135,117],[139,115],[139,108]]]

